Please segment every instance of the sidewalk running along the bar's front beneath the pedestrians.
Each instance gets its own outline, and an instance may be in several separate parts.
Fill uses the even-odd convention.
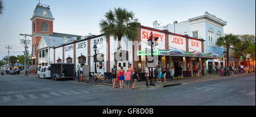
[[[251,72],[249,74],[253,74],[253,73],[255,72]],[[155,82],[155,86],[148,86],[148,87],[146,86],[146,81],[141,81],[141,82],[138,82],[138,88],[135,88],[135,89],[155,89],[155,88],[168,86],[168,85],[181,85],[181,84],[192,83],[192,82],[210,81],[210,80],[217,80],[220,78],[237,77],[237,76],[243,76],[243,75],[247,75],[247,74],[239,73],[239,74],[235,74],[234,76],[226,76],[226,77],[221,77],[218,74],[208,74],[202,77],[182,77],[181,80],[177,80],[177,78],[174,78],[174,81],[171,81],[171,79],[167,79],[167,82]],[[97,82],[97,83],[86,82],[86,83],[112,86],[112,83],[102,83],[102,82]],[[150,84],[150,81],[149,81],[149,84]]]

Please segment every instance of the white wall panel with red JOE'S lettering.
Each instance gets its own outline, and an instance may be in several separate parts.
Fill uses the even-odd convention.
[[[180,36],[169,35],[169,49],[186,51],[186,39]]]

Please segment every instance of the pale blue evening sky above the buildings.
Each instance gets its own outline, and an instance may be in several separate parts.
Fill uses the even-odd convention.
[[[31,34],[30,18],[39,0],[3,0],[4,10],[0,14],[0,60],[7,56],[7,45],[11,45],[10,56],[23,55],[23,39],[19,34]],[[209,14],[225,20],[224,34],[255,35],[255,0],[40,0],[49,5],[53,18],[53,32],[74,35],[99,35],[99,22],[115,7],[126,8],[135,13],[143,26],[152,27],[157,20],[160,26],[183,22],[189,18]],[[31,37],[29,38],[31,39]],[[30,46],[29,46],[30,47]],[[31,51],[31,47],[28,49]]]

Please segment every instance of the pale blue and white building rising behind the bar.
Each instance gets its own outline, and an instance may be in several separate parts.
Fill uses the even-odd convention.
[[[223,55],[224,47],[217,46],[218,37],[224,36],[224,20],[217,18],[214,15],[205,12],[204,15],[188,19],[185,22],[174,22],[166,26],[158,27],[156,21],[153,22],[153,27],[159,30],[168,30],[175,34],[188,35],[197,39],[204,39],[204,53],[216,53]],[[215,65],[224,65],[222,58],[207,60],[205,72],[213,73]]]

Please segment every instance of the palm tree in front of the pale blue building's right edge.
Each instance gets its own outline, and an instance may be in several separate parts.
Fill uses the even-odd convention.
[[[226,59],[227,59],[227,65],[229,65],[229,49],[232,45],[235,45],[236,43],[240,43],[240,40],[237,38],[236,35],[228,34],[224,37],[218,37],[217,39],[217,45],[218,46],[224,46],[226,48]]]

